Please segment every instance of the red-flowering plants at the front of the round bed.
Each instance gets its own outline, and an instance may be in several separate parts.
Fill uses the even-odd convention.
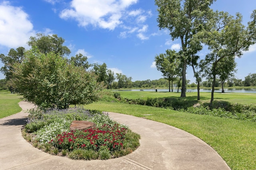
[[[49,143],[59,149],[74,150],[84,148],[86,150],[121,150],[123,148],[124,136],[127,128],[120,127],[119,124],[109,126],[104,124],[100,128],[90,128],[87,130],[74,130],[58,134]]]

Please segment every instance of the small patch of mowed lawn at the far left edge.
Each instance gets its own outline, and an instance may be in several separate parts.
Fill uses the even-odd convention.
[[[10,91],[0,91],[0,118],[22,111],[18,104],[20,101],[21,96],[18,94],[11,94]]]

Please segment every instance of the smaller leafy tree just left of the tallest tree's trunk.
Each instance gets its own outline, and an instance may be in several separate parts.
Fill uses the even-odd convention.
[[[159,54],[155,56],[156,68],[162,72],[162,76],[169,82],[169,92],[170,82],[172,82],[172,92],[173,92],[173,81],[181,73],[179,54],[175,50],[166,50],[165,54]]]

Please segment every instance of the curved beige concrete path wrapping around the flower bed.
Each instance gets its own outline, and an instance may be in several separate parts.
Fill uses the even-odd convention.
[[[31,146],[21,135],[25,111],[0,119],[0,170],[230,170],[206,143],[178,128],[125,114],[110,116],[140,134],[132,154],[110,160],[71,160],[52,156]]]

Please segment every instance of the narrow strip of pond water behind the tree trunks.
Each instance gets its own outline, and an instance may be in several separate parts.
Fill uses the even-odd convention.
[[[156,89],[122,89],[122,90],[113,90],[113,91],[147,91],[155,92]],[[157,89],[158,92],[169,92],[169,89]],[[172,91],[172,89],[171,89]],[[187,89],[188,92],[197,92],[197,89]],[[214,92],[221,93],[221,88],[215,88]],[[256,88],[224,88],[225,93],[256,93]],[[177,88],[173,89],[173,92],[177,92]],[[179,89],[180,92],[180,89]],[[212,92],[211,88],[200,88],[200,92]]]

